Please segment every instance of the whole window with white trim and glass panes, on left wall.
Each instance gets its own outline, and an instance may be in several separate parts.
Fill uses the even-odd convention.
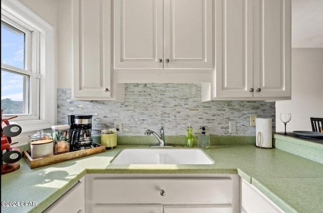
[[[23,132],[56,120],[53,27],[17,0],[1,1],[1,107]],[[11,121],[12,122],[12,121]]]

